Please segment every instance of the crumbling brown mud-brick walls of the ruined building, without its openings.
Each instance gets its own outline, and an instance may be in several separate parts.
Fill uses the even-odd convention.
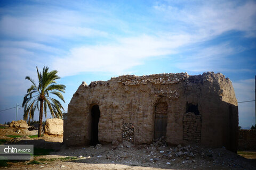
[[[64,142],[86,145],[91,140],[91,108],[99,105],[99,141],[126,140],[150,143],[154,138],[156,106],[167,106],[166,141],[183,143],[183,120],[188,105],[195,105],[201,116],[201,145],[235,150],[238,110],[234,89],[220,73],[190,76],[187,73],[123,75],[108,81],[85,82],[68,106]],[[124,125],[134,127],[125,137]],[[235,133],[233,133],[233,131]],[[199,136],[199,134],[198,134]],[[129,138],[130,137],[130,138]],[[200,138],[200,139],[199,139]]]

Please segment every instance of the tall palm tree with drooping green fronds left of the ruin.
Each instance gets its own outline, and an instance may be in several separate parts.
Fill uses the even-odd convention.
[[[41,74],[41,72],[38,72],[37,67],[36,70],[39,82],[38,86],[36,86],[34,80],[32,80],[28,76],[26,77],[26,79],[28,79],[32,83],[32,85],[27,90],[27,94],[24,96],[22,107],[24,107],[23,119],[28,120],[29,115],[29,119],[34,120],[35,109],[39,109],[38,105],[40,103],[38,137],[41,137],[43,112],[46,118],[47,107],[50,109],[53,118],[62,118],[61,109],[63,109],[64,111],[64,108],[61,106],[60,101],[50,97],[49,94],[57,96],[65,103],[61,92],[65,92],[66,86],[64,86],[63,84],[57,84],[55,82],[55,80],[60,79],[60,77],[58,77],[57,75],[58,71],[53,70],[51,72],[48,72],[49,68],[44,67],[43,73]]]

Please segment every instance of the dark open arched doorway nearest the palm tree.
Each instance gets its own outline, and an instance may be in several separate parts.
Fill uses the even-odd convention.
[[[92,126],[91,126],[91,145],[97,145],[99,143],[99,119],[100,119],[100,108],[98,105],[92,106]]]

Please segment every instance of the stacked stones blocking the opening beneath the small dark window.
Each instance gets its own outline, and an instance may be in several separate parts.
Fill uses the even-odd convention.
[[[183,118],[183,140],[199,143],[201,140],[201,115],[188,112]]]

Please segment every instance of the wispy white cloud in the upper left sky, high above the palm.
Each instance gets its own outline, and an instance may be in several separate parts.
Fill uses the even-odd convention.
[[[93,22],[87,19],[90,18],[89,16],[81,16],[76,12],[60,8],[34,7],[38,10],[37,13],[34,12],[33,6],[25,6],[28,10],[25,12],[26,15],[3,15],[0,20],[2,34],[38,41],[49,41],[54,38],[107,36],[104,31],[85,26],[87,22]]]

